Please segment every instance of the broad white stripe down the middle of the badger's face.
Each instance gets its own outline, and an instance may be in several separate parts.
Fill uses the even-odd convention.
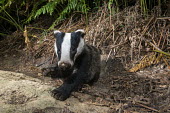
[[[71,48],[71,33],[65,33],[61,45],[61,59],[58,62],[58,65],[61,62],[65,62],[65,63],[70,63],[71,66],[73,66],[73,61],[71,61],[70,59],[70,48]]]

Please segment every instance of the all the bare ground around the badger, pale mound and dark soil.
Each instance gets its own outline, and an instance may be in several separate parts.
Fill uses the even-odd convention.
[[[130,73],[125,58],[106,63],[106,57],[102,56],[99,81],[85,85],[66,101],[51,96],[61,81],[43,77],[35,66],[40,61],[28,62],[17,55],[0,57],[0,113],[170,112],[170,69],[166,65]]]

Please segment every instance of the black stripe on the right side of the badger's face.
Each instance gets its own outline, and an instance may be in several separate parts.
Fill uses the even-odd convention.
[[[79,32],[71,33],[71,48],[70,48],[70,59],[73,61],[74,56],[77,53],[77,48],[80,43],[81,34]]]

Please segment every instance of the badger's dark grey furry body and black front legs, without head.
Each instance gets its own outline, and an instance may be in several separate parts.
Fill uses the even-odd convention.
[[[53,65],[42,71],[45,76],[63,78],[64,83],[52,90],[52,96],[63,101],[71,95],[71,92],[81,88],[83,84],[92,85],[99,79],[100,63],[99,49],[85,44],[81,54],[76,57],[74,65],[71,68],[62,70],[58,65]]]

